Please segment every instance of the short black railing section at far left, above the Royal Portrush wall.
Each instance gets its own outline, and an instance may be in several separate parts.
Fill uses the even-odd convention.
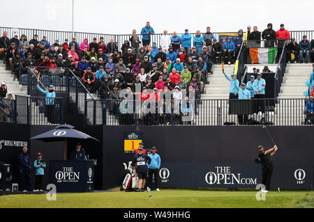
[[[27,125],[59,125],[64,122],[63,98],[27,97],[0,99],[0,122]]]

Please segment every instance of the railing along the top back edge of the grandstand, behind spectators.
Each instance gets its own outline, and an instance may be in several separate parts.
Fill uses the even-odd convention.
[[[33,38],[33,35],[38,35],[38,40],[41,40],[43,35],[47,37],[47,40],[50,41],[50,44],[54,43],[55,39],[59,39],[59,44],[63,44],[65,39],[68,39],[68,43],[71,42],[73,38],[72,31],[51,31],[51,30],[43,30],[43,29],[24,29],[24,28],[12,28],[12,27],[0,27],[0,33],[3,33],[3,31],[8,32],[8,37],[12,38],[13,31],[17,31],[19,33],[19,36],[24,34],[27,35],[27,40],[31,40]],[[137,33],[140,33],[140,30],[137,31]],[[216,32],[214,33],[217,40],[219,40],[220,34],[225,34],[230,32]],[[195,33],[190,33],[192,35],[192,38],[195,36]],[[74,36],[76,38],[76,41],[78,43],[83,42],[84,38],[89,38],[89,42],[93,38],[97,38],[99,40],[100,37],[104,38],[105,43],[110,42],[110,38],[114,38],[114,42],[117,43],[118,48],[121,49],[121,46],[124,44],[124,40],[129,40],[130,36],[132,34],[121,34],[121,35],[114,35],[114,34],[105,34],[105,33],[88,33],[88,32],[74,32]],[[151,35],[151,44],[152,42],[156,42],[157,46],[159,46],[159,40],[160,36],[163,35],[162,33],[156,33],[154,35]],[[181,33],[178,33],[178,35],[181,35]],[[308,40],[312,40],[314,38],[314,31],[290,31],[290,38],[295,38],[297,42],[302,40],[303,35],[308,36]],[[142,35],[139,34],[140,40],[142,40]]]

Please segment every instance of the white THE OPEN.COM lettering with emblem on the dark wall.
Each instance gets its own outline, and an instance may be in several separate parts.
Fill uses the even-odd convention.
[[[257,184],[257,178],[242,177],[241,173],[231,173],[230,166],[215,166],[216,172],[205,175],[207,184]]]

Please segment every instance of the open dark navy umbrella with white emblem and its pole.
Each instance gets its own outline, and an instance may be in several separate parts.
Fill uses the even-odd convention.
[[[38,139],[45,142],[64,141],[64,160],[66,160],[66,141],[70,138],[98,141],[98,139],[74,129],[72,125],[59,125],[48,132],[31,137],[31,139]]]

